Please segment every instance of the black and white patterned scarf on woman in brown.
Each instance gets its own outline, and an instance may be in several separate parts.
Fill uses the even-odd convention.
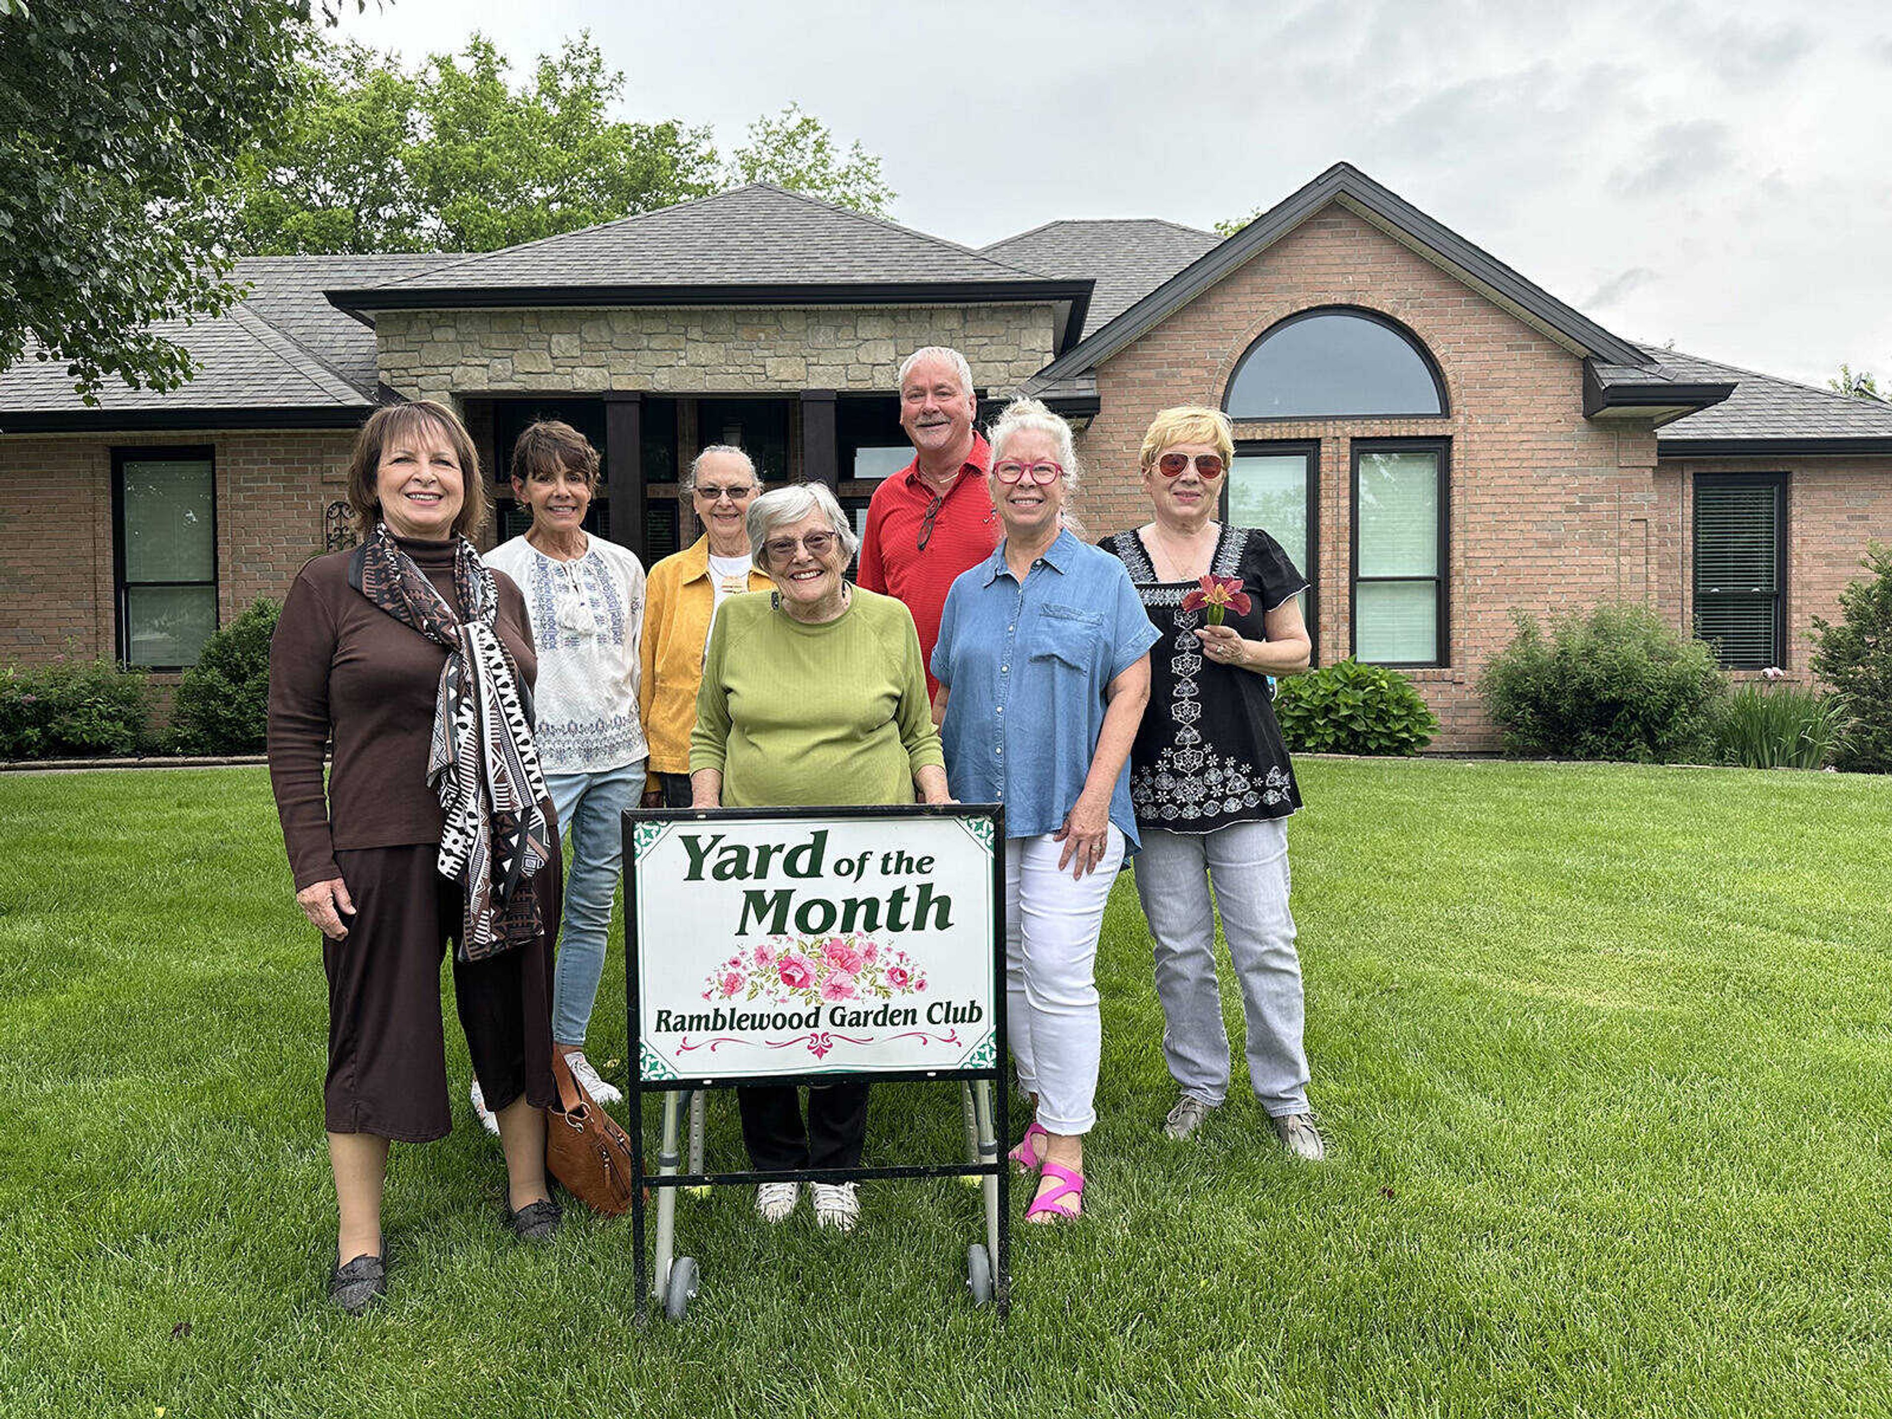
[[[465,537],[454,545],[462,619],[377,522],[348,562],[348,583],[405,626],[445,645],[433,702],[428,783],[441,795],[441,876],[465,887],[460,959],[479,961],[530,942],[543,929],[537,901],[520,885],[556,848],[539,806],[545,776],[532,742],[513,658],[499,643],[499,590]]]

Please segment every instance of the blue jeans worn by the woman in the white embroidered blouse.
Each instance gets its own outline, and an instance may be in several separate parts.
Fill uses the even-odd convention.
[[[558,823],[571,838],[564,931],[552,972],[552,1041],[569,1048],[583,1048],[598,999],[611,899],[624,867],[622,814],[643,797],[643,766],[639,759],[602,774],[545,776]]]

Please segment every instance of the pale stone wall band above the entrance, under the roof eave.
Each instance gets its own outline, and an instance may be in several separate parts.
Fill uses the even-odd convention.
[[[889,394],[899,361],[952,344],[982,388],[1052,358],[1048,305],[730,310],[388,310],[380,378],[409,397],[458,394]]]

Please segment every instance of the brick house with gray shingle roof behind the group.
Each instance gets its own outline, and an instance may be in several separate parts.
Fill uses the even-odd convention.
[[[257,257],[180,329],[202,373],[87,409],[0,375],[0,660],[72,647],[176,670],[346,537],[350,429],[450,399],[488,477],[554,414],[604,452],[596,530],[647,562],[696,535],[677,471],[740,443],[857,515],[908,448],[893,371],[954,344],[988,399],[1080,428],[1094,535],[1147,518],[1164,405],[1228,409],[1228,515],[1313,583],[1317,660],[1400,666],[1480,749],[1512,613],[1642,600],[1737,668],[1807,668],[1869,537],[1892,535],[1892,409],[1633,344],[1336,165],[1228,240],[1054,221],[984,250],[768,185],[484,255]],[[498,488],[494,535],[518,530]]]

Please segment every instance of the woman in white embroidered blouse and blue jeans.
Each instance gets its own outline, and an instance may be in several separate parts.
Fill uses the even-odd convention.
[[[621,815],[643,797],[649,755],[638,723],[643,566],[585,532],[596,486],[598,450],[583,433],[556,420],[528,426],[513,447],[513,496],[532,507],[532,526],[490,551],[486,564],[526,596],[539,651],[539,761],[558,821],[571,832],[552,1042],[594,1099],[617,1103],[622,1092],[585,1058],[585,1031],[622,870]],[[473,1107],[492,1128],[477,1078]]]

